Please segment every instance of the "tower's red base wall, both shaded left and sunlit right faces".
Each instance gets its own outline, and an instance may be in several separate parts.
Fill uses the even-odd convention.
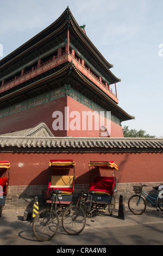
[[[91,111],[90,108],[84,106],[78,101],[72,99],[69,96],[62,97],[60,99],[46,102],[44,104],[25,109],[15,114],[8,115],[1,118],[0,134],[9,133],[12,131],[21,131],[36,126],[37,124],[44,122],[48,126],[49,130],[55,137],[99,137],[99,130],[65,130],[65,107],[69,107],[70,113],[72,111],[78,111],[81,117],[82,125],[82,111]],[[63,114],[63,129],[54,130],[53,122],[58,117],[53,118],[52,115],[55,111],[60,111]],[[70,118],[71,120],[74,118]],[[92,122],[94,125],[94,121]],[[59,124],[57,124],[58,126]],[[111,134],[110,137],[123,137],[122,127],[111,121]]]

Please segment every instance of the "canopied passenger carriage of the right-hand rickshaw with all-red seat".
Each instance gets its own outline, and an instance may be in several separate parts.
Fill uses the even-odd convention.
[[[92,200],[92,208],[98,210],[109,206],[110,215],[115,211],[115,192],[117,183],[118,167],[114,161],[90,161],[90,186],[87,203]],[[108,176],[108,171],[112,176]],[[102,175],[103,173],[103,175]],[[92,196],[93,195],[93,196]]]

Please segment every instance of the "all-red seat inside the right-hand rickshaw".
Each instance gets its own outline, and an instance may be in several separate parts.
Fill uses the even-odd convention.
[[[114,177],[98,176],[90,183],[89,191],[112,194],[114,191],[115,180]]]

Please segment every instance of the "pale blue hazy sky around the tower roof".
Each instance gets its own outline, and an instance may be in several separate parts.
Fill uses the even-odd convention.
[[[135,116],[122,126],[163,137],[162,0],[0,0],[3,57],[57,20],[67,5],[121,79],[118,105]]]

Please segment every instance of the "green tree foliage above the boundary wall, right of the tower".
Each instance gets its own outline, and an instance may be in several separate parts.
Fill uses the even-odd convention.
[[[155,136],[146,134],[146,131],[140,129],[139,131],[135,129],[129,130],[128,126],[123,127],[123,135],[124,137],[130,137],[130,138],[154,138]]]

